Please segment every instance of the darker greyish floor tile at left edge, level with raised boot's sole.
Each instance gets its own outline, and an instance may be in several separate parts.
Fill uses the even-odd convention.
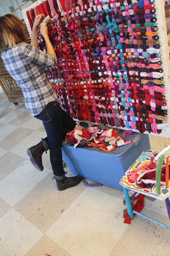
[[[25,158],[22,158],[21,156],[11,152],[7,152],[6,154],[2,155],[0,158],[0,181],[9,175],[24,161]]]

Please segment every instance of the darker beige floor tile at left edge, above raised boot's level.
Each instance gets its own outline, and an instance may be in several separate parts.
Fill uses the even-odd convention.
[[[13,147],[22,142],[23,139],[28,137],[34,130],[19,127],[13,133],[1,140],[0,145],[2,149],[11,150]]]

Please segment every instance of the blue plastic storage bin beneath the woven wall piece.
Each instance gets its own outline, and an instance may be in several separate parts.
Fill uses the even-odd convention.
[[[119,136],[122,135],[123,130],[119,132]],[[116,147],[110,153],[98,148],[74,149],[74,146],[63,145],[63,158],[72,174],[79,174],[91,181],[122,190],[119,181],[125,171],[143,151],[150,149],[147,134],[133,132],[125,140],[130,140],[131,144]]]

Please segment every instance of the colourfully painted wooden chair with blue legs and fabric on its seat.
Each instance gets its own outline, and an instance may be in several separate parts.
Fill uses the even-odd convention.
[[[135,193],[141,193],[154,199],[165,200],[168,216],[170,219],[170,164],[168,158],[170,155],[170,145],[163,149],[160,153],[151,149],[142,153],[139,158],[125,172],[120,185],[123,186],[125,201],[130,219],[134,218],[134,214],[144,217],[154,223],[157,223],[167,229],[167,226],[156,221],[142,213],[132,209],[128,190]],[[152,167],[151,167],[152,166]],[[156,168],[155,168],[156,167]],[[152,170],[149,168],[153,168]],[[155,169],[154,169],[155,168]]]

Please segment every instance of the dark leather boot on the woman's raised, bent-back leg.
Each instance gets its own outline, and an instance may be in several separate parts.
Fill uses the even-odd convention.
[[[47,142],[41,138],[41,141],[27,149],[27,155],[30,157],[31,163],[39,170],[42,171],[44,169],[42,165],[42,154],[45,151],[47,153],[48,144]]]

